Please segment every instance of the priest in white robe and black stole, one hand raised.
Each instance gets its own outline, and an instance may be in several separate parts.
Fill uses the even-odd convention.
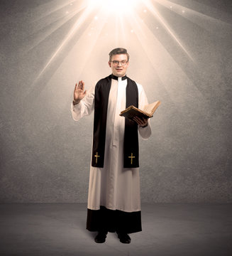
[[[142,85],[126,76],[128,65],[125,48],[111,50],[111,75],[88,92],[82,80],[74,87],[73,119],[94,111],[87,230],[97,231],[95,242],[116,232],[120,242],[130,243],[128,234],[142,230],[138,133],[148,139],[151,129],[148,119],[130,121],[119,115],[130,105],[143,109],[148,104]]]

